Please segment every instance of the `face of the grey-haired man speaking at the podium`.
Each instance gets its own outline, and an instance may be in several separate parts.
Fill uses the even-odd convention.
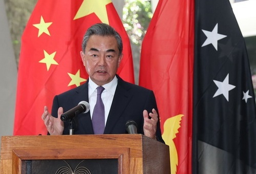
[[[80,54],[91,80],[100,86],[114,78],[123,57],[114,36],[90,36],[85,53]]]

